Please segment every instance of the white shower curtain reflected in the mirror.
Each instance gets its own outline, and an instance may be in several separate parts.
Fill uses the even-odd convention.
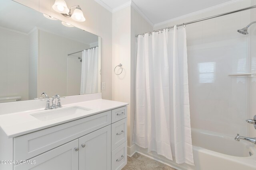
[[[80,94],[98,93],[98,47],[82,52]]]

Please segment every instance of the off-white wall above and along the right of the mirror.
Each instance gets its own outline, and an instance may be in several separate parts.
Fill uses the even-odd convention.
[[[55,0],[15,0],[30,8],[66,21],[85,31],[100,37],[102,46],[102,82],[106,82],[106,90],[102,90],[102,98],[112,99],[112,13],[100,6],[94,0],[66,0],[67,6],[80,5],[86,21],[77,22],[66,18],[52,9]]]

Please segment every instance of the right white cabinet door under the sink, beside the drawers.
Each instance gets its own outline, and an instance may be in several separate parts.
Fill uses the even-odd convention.
[[[79,170],[111,169],[111,125],[79,138]]]

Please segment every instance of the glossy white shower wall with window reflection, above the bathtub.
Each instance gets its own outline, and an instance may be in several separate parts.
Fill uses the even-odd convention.
[[[230,12],[254,3],[255,1],[251,0],[240,1],[154,29]],[[251,13],[256,13],[256,10],[186,25],[192,128],[232,136],[236,133],[248,135],[249,125],[245,119],[256,109],[253,108],[255,103],[249,107],[249,94],[253,90],[256,94],[256,81],[252,81],[254,78],[232,77],[228,74],[247,73],[249,65],[254,60],[256,63],[256,58],[250,59],[249,53],[249,46],[253,41],[255,47],[256,39],[249,38],[252,35],[236,32],[253,20]],[[250,29],[249,32],[256,35],[256,29]],[[252,53],[256,54],[256,50],[251,50]],[[254,67],[252,71],[256,72],[256,66]],[[254,84],[254,87],[250,88],[249,82]]]

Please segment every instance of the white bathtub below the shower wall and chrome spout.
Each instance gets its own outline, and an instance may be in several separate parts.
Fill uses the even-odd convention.
[[[242,135],[242,134],[241,134]],[[192,129],[194,170],[256,170],[256,145],[234,136]],[[250,153],[252,156],[250,156]],[[190,169],[188,168],[188,169]]]

